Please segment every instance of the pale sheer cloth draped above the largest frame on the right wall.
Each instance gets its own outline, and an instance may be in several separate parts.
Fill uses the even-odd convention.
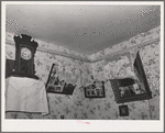
[[[107,58],[108,64],[103,68],[106,79],[135,78],[133,58],[130,52]]]

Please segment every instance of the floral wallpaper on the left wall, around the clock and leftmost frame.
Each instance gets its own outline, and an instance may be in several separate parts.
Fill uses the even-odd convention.
[[[6,45],[7,58],[14,59],[15,49],[11,45]],[[77,86],[73,96],[47,93],[50,103],[50,115],[42,117],[37,113],[21,113],[10,112],[8,118],[16,119],[61,119],[64,115],[65,119],[87,119],[95,118],[92,107],[92,100],[85,99],[84,89],[81,85],[90,81],[91,70],[90,64],[80,60],[62,57],[55,54],[36,52],[35,58],[36,76],[40,77],[45,84],[48,78],[48,74],[53,64],[57,64],[59,68],[64,68],[69,73],[75,73],[78,76]],[[91,110],[92,115],[88,112]]]

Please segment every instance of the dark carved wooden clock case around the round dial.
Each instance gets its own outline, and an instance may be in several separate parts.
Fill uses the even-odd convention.
[[[11,74],[12,76],[16,77],[29,77],[38,79],[35,76],[35,65],[34,65],[34,54],[36,52],[36,47],[38,44],[32,37],[25,34],[14,36],[15,42],[15,70]],[[31,51],[31,58],[24,59],[21,57],[21,49],[25,47]]]

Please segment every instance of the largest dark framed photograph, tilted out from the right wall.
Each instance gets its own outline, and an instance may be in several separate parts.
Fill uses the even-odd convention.
[[[134,73],[136,79],[110,79],[117,103],[146,100],[152,98],[143,65],[138,53],[134,60]]]

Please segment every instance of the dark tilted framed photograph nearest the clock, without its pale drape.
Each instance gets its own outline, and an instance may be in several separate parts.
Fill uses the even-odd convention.
[[[62,95],[73,95],[76,85],[67,84],[65,80],[61,80],[57,75],[56,65],[52,65],[52,69],[46,82],[46,91]]]

